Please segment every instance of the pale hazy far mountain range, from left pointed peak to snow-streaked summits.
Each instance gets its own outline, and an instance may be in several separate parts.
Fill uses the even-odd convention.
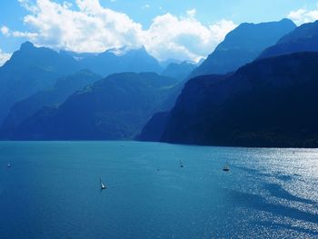
[[[122,72],[162,73],[164,70],[144,47],[131,50],[112,49],[96,55],[56,52],[25,42],[10,60],[0,67],[0,84],[2,85],[0,88],[0,124],[9,114],[10,108],[19,101],[28,97],[36,98],[38,96],[33,97],[33,95],[40,91],[46,93],[51,91],[59,78],[66,76],[75,78],[75,73],[82,69],[88,69],[94,74],[102,76]],[[78,82],[83,82],[83,75],[78,76],[80,78]],[[68,82],[65,81],[65,85]],[[70,88],[70,90],[73,89]],[[74,91],[68,91],[68,93],[73,94]],[[25,103],[24,105],[26,108],[28,107]]]

